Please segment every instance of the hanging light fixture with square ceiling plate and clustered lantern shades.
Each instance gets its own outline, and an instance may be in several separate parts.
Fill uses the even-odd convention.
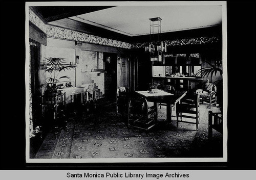
[[[150,43],[145,46],[145,52],[150,52],[151,61],[162,61],[166,52],[166,43],[162,42],[161,18],[150,18]]]

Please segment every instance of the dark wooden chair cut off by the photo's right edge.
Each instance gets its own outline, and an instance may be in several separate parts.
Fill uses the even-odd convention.
[[[208,139],[212,140],[212,130],[216,130],[219,133],[223,134],[223,121],[222,121],[222,113],[213,113],[209,111],[208,118]]]

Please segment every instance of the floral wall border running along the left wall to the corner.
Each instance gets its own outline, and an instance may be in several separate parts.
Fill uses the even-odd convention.
[[[53,25],[45,24],[31,9],[29,9],[29,20],[42,30],[48,37],[81,41],[85,43],[100,44],[106,46],[120,47],[130,49],[132,44],[121,42],[113,39],[102,38],[86,33],[80,33],[73,30],[54,27]]]

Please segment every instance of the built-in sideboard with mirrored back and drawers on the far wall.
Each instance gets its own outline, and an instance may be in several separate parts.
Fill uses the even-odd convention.
[[[163,62],[153,62],[153,81],[172,85],[175,89],[191,90],[202,86],[203,78],[197,75],[202,67],[200,54],[167,55]]]

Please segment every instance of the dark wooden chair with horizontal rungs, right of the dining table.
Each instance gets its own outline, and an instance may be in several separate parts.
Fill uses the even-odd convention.
[[[186,113],[189,115],[184,115]],[[200,120],[199,113],[199,94],[186,95],[180,102],[176,105],[176,116],[177,116],[177,127],[179,122],[196,124],[198,130],[198,124]],[[180,117],[180,120],[179,120]],[[196,119],[196,122],[183,121],[182,117]]]

